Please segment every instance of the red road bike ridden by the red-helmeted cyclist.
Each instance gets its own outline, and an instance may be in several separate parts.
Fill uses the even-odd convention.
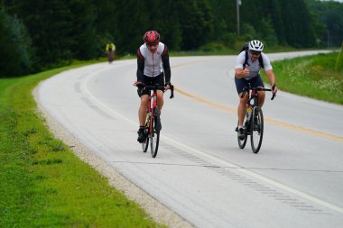
[[[164,87],[156,86],[144,86],[139,85],[138,87],[142,87],[144,89],[148,89],[150,91],[149,103],[146,108],[146,120],[145,120],[145,141],[142,142],[142,150],[146,152],[149,147],[150,142],[150,151],[152,157],[155,158],[157,155],[159,143],[160,143],[160,131],[162,129],[162,123],[160,118],[160,110],[157,107],[157,89],[163,89]],[[174,97],[174,87],[171,85],[171,96],[170,98]]]

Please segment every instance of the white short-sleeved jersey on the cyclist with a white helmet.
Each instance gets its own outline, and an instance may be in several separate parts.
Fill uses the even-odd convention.
[[[261,66],[260,63],[258,61],[258,59],[256,59],[254,62],[251,60],[251,54],[249,53],[249,58],[247,59],[247,64],[249,65],[249,76],[245,77],[246,80],[249,80],[251,78],[255,78],[259,75]],[[271,61],[269,60],[268,56],[266,54],[264,54],[263,52],[261,52],[262,55],[262,59],[264,61],[264,70],[268,70],[268,69],[273,69]],[[242,68],[243,69],[243,65],[245,64],[246,61],[246,51],[242,51],[237,59],[236,59],[236,66],[235,68]]]

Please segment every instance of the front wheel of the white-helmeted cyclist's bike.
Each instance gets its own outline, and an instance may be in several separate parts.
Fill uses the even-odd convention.
[[[253,110],[250,132],[251,148],[255,153],[258,153],[264,138],[264,114],[259,107],[255,107]]]

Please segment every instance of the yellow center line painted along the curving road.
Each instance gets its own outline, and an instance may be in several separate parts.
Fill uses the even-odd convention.
[[[178,91],[179,94],[181,94],[183,96],[190,97],[191,99],[193,99],[195,101],[198,101],[198,102],[200,102],[202,104],[209,105],[211,107],[217,108],[219,110],[222,110],[224,112],[231,113],[231,114],[236,114],[236,112],[237,112],[236,108],[232,108],[232,107],[229,107],[227,105],[221,105],[219,103],[216,103],[216,102],[213,102],[213,101],[209,101],[209,100],[207,100],[205,98],[202,98],[200,96],[192,95],[189,92],[186,92],[185,90],[183,90],[183,89],[181,89],[179,87],[174,87],[174,89],[176,91]],[[291,129],[293,131],[304,132],[304,133],[308,133],[308,134],[311,134],[311,135],[315,135],[315,136],[319,136],[319,137],[322,137],[322,138],[326,138],[326,139],[329,139],[329,140],[342,141],[343,142],[343,137],[340,137],[340,136],[337,136],[337,135],[332,135],[332,134],[329,134],[329,133],[318,132],[318,131],[307,129],[307,128],[303,128],[301,126],[297,126],[297,125],[294,125],[294,124],[291,124],[291,123],[283,123],[283,122],[280,122],[280,121],[275,121],[275,120],[270,119],[270,118],[264,118],[264,122],[265,123],[273,124],[275,126]]]

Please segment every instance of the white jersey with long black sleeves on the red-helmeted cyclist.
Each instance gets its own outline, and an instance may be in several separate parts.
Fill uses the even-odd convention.
[[[159,42],[157,50],[152,52],[144,43],[137,50],[137,79],[141,81],[143,76],[156,77],[164,71],[165,81],[171,80],[171,68],[167,46]]]

